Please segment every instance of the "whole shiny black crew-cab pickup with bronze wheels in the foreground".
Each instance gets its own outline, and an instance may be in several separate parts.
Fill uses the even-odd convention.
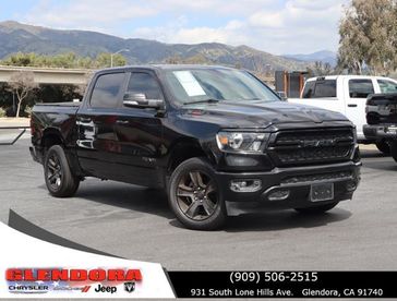
[[[73,195],[85,177],[165,189],[192,229],[256,206],[322,213],[360,180],[344,116],[282,101],[224,67],[99,71],[81,104],[34,107],[32,143],[52,195]]]

